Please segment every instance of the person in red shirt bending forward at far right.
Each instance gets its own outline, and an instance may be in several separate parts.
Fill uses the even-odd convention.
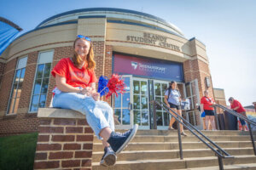
[[[237,113],[241,114],[242,116],[247,116],[246,110],[242,107],[241,103],[238,100],[230,97],[229,102],[230,102],[231,109],[233,111],[236,111]],[[241,130],[245,131],[246,122],[240,118],[239,118],[239,120],[241,122]]]

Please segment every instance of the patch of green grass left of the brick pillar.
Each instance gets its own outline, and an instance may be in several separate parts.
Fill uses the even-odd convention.
[[[0,170],[33,169],[38,133],[0,138]]]

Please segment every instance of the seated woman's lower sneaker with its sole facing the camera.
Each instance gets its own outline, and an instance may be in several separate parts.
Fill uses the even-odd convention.
[[[103,167],[111,167],[115,164],[115,161],[116,161],[116,156],[113,150],[110,147],[105,147],[102,160],[100,161],[100,165]]]

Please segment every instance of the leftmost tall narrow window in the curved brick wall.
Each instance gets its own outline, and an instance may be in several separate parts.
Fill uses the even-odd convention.
[[[24,76],[26,71],[26,60],[27,60],[27,57],[24,57],[19,59],[17,62],[15,78],[14,78],[14,82],[11,90],[11,95],[9,98],[7,115],[15,114],[18,111],[20,94],[21,94],[22,84],[24,81]]]

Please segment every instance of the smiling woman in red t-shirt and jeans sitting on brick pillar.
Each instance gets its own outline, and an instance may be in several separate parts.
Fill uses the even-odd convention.
[[[98,139],[102,139],[104,154],[100,164],[113,166],[116,155],[137,133],[137,125],[125,133],[114,132],[113,109],[107,102],[99,100],[96,92],[96,62],[90,37],[78,35],[73,42],[73,57],[61,59],[51,71],[56,87],[52,105],[79,111]]]

